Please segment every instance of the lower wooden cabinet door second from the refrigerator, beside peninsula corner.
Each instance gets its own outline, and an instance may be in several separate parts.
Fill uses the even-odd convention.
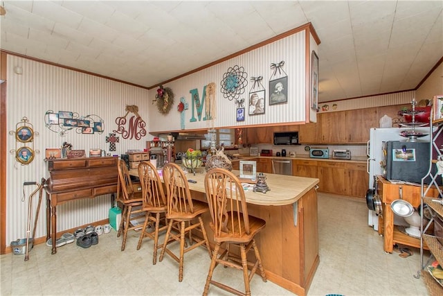
[[[346,167],[343,162],[318,162],[318,191],[346,194]]]

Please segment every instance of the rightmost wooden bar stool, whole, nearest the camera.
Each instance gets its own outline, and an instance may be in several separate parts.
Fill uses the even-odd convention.
[[[255,234],[264,228],[266,221],[248,215],[242,184],[224,168],[213,168],[206,173],[205,191],[212,218],[210,227],[214,231],[215,249],[203,295],[208,295],[210,284],[236,295],[251,295],[250,282],[257,268],[263,281],[266,281],[260,252],[254,240]],[[221,249],[221,244],[224,244],[225,250]],[[231,252],[231,247],[239,247],[240,256],[238,252]],[[255,253],[254,262],[248,262],[246,258],[251,248]],[[213,279],[214,268],[219,264],[243,271],[244,293]],[[251,268],[250,273],[248,267]]]

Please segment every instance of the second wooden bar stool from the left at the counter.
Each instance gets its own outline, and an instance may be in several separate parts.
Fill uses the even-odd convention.
[[[138,239],[137,250],[140,250],[143,238],[148,237],[154,240],[154,256],[152,264],[157,263],[157,250],[163,245],[159,245],[159,232],[168,229],[168,223],[165,218],[166,198],[163,192],[163,183],[161,182],[157,169],[150,162],[141,162],[138,164],[138,177],[140,178],[141,189],[143,193],[143,211],[146,212],[145,223]],[[160,227],[160,221],[163,218],[164,225]],[[154,232],[147,232],[148,223],[153,223]]]

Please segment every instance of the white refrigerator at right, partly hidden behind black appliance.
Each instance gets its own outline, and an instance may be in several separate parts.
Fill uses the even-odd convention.
[[[410,132],[411,128],[371,128],[368,145],[366,146],[366,154],[368,155],[368,164],[366,166],[369,173],[368,189],[374,188],[374,175],[383,175],[383,142],[386,141],[409,141],[408,138],[402,137],[401,132]],[[429,137],[429,127],[415,128],[415,132],[427,134],[425,137],[417,138],[417,141],[428,142],[431,141]],[[379,229],[379,218],[374,211],[368,210],[368,225],[374,227],[374,230]],[[395,217],[398,224],[403,224],[401,217]],[[396,221],[394,222],[396,224]],[[407,225],[407,224],[406,224]]]

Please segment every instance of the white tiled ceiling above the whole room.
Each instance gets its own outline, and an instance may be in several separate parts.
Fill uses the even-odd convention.
[[[0,49],[150,87],[311,22],[319,102],[414,89],[443,1],[2,1]]]

